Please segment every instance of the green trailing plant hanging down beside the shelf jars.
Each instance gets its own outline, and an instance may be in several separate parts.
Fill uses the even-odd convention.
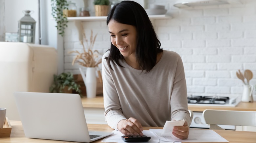
[[[68,27],[68,19],[63,16],[63,9],[68,9],[67,0],[51,0],[52,16],[57,23],[58,33],[63,37],[65,34],[65,28]]]

